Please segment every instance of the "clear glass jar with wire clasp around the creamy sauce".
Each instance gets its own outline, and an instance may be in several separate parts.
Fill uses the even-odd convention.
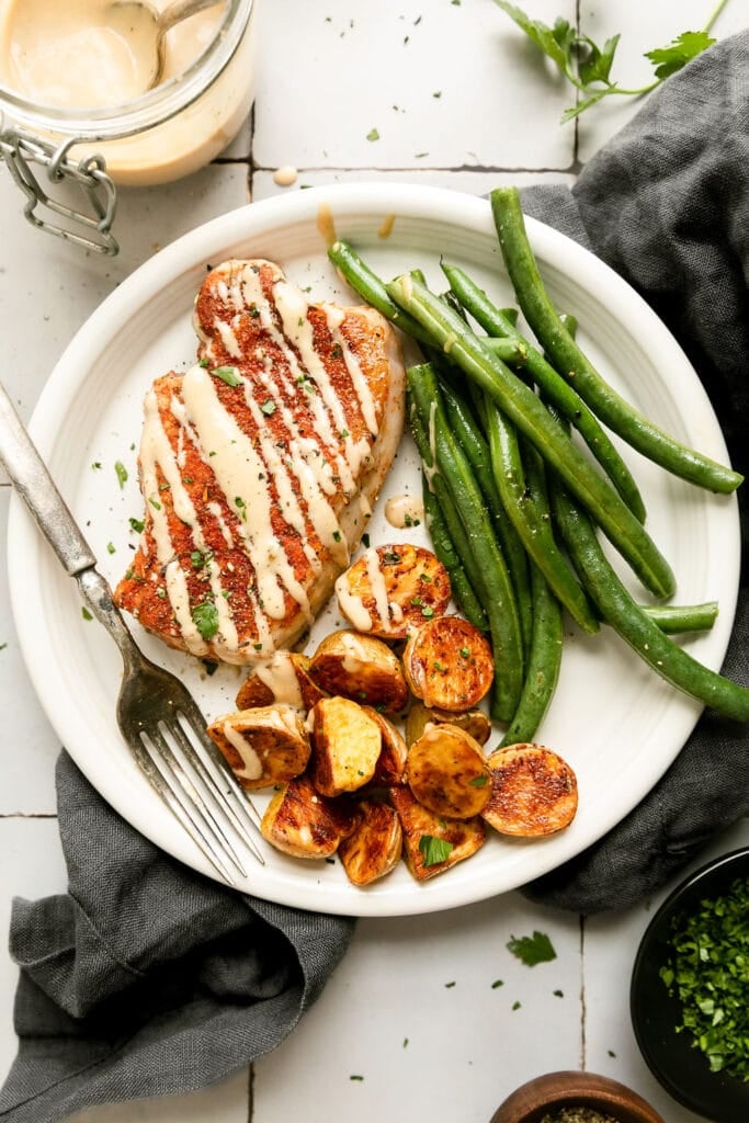
[[[111,184],[167,183],[190,175],[218,156],[246,120],[255,93],[256,0],[225,0],[222,6],[217,4],[210,40],[202,49],[198,47],[198,57],[188,56],[183,69],[171,76],[167,57],[166,77],[159,85],[109,108],[39,104],[9,84],[13,19],[29,2],[34,0],[0,0],[0,155],[26,194],[30,198],[34,193],[37,202],[48,209],[52,206],[53,212],[56,207],[29,164],[46,164],[51,180],[66,175],[79,182],[92,179],[92,192],[103,188],[108,193]],[[90,0],[92,11],[101,2]],[[155,8],[165,4],[166,0],[154,2]],[[194,26],[191,29],[190,25],[211,12],[209,9],[201,17],[191,17],[170,36],[184,28],[186,35],[193,33],[184,42],[195,43]],[[85,60],[81,63],[85,64]],[[94,211],[106,209],[113,216],[116,190],[110,193],[111,199],[101,204],[92,195]],[[64,206],[61,209],[67,210]],[[31,201],[26,208],[27,218],[49,228],[48,222],[36,220],[33,211]],[[94,218],[100,228],[103,216]]]

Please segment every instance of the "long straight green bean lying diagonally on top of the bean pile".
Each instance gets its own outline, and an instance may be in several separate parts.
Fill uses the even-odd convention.
[[[670,596],[676,583],[668,563],[609,481],[599,475],[536,394],[423,285],[401,276],[386,287],[393,300],[429,330],[435,344],[494,399],[505,417],[559,472],[646,588],[656,596]]]

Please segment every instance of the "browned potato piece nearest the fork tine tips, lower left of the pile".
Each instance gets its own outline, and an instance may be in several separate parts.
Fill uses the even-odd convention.
[[[261,833],[276,850],[293,858],[329,858],[356,824],[347,801],[326,800],[309,776],[298,776],[268,803]]]

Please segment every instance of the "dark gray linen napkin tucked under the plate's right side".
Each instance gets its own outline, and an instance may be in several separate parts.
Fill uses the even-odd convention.
[[[749,30],[675,74],[591,161],[572,192],[523,192],[523,209],[581,241],[668,325],[749,468]],[[749,685],[748,508],[724,672]],[[678,559],[676,559],[678,560]],[[593,913],[663,885],[749,813],[749,730],[705,713],[652,792],[604,839],[527,886],[533,901]]]

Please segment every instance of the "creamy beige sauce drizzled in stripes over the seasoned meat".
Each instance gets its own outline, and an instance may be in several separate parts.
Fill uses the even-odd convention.
[[[257,656],[258,666],[263,668],[261,674],[267,677],[268,685],[273,679],[274,694],[278,688],[283,701],[299,705],[301,695],[293,664],[283,658],[261,663],[267,660],[274,650],[271,621],[286,615],[289,596],[308,620],[312,615],[305,586],[296,577],[294,565],[274,531],[274,512],[277,514],[280,510],[284,523],[295,532],[312,574],[319,572],[321,558],[319,545],[310,541],[310,527],[335,560],[341,565],[348,563],[348,542],[336,513],[339,485],[334,472],[345,490],[349,494],[355,493],[357,478],[368,463],[372,439],[377,430],[375,404],[356,357],[345,346],[340,332],[342,312],[330,309],[326,314],[331,338],[340,346],[362,417],[372,435],[371,439],[358,441],[346,435],[344,405],[316,350],[312,323],[308,319],[309,305],[303,294],[282,280],[275,283],[273,300],[282,320],[280,328],[258,273],[248,266],[231,276],[231,283],[221,279],[217,285],[220,299],[235,311],[236,317],[247,314],[248,308],[253,309],[252,314],[259,317],[268,339],[282,351],[284,359],[274,364],[262,348],[256,349],[255,358],[262,363],[259,372],[256,369],[254,373],[262,387],[259,393],[257,384],[253,387],[249,380],[241,376],[241,368],[236,368],[240,385],[235,392],[241,393],[244,386],[244,401],[256,433],[250,438],[244,432],[235,416],[221,403],[219,380],[204,365],[197,364],[182,377],[180,394],[173,394],[170,403],[171,413],[179,423],[176,447],[164,428],[156,392],[152,390],[146,398],[140,448],[141,486],[149,503],[154,548],[164,573],[166,595],[188,649],[198,656],[212,651],[220,658],[236,652],[239,646],[229,597],[223,595],[226,591],[220,566],[207,549],[201,527],[201,515],[204,520],[208,513],[218,526],[227,548],[243,548],[255,570],[255,585],[247,591],[247,595],[257,632],[257,648],[262,651],[262,656]],[[236,317],[231,323],[217,317],[213,325],[216,339],[223,349],[220,353],[223,363],[226,354],[237,359],[241,357]],[[208,362],[212,365],[219,351],[213,340],[208,339],[207,344]],[[299,419],[284,402],[284,398],[293,399],[300,393],[300,383],[309,382],[313,389],[308,400],[308,422],[312,422],[314,437],[300,430]],[[268,410],[272,414],[278,412],[287,431],[286,440],[278,441],[277,428],[274,430],[267,424]],[[200,511],[195,510],[183,481],[189,446],[210,468],[228,512],[216,501],[205,503]],[[321,446],[325,446],[326,455],[322,455]],[[334,460],[332,468],[329,457]],[[167,508],[158,499],[162,480],[168,486],[174,514],[190,529],[195,550],[204,555],[201,568],[208,576],[207,593],[216,605],[219,626],[218,634],[210,645],[202,638],[192,617],[189,570],[174,555]],[[384,604],[386,611],[386,596]]]

